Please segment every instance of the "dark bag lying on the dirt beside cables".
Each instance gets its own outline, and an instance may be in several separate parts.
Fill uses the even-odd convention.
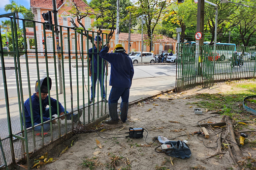
[[[163,144],[171,145],[171,147],[168,149],[162,149],[162,152],[168,156],[177,157],[181,159],[191,157],[190,147],[183,141],[167,141]]]

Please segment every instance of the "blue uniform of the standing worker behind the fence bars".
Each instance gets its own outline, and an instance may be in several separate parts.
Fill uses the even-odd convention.
[[[91,58],[91,63],[90,63],[90,69],[92,72],[92,76],[91,76],[91,81],[92,81],[92,85],[91,85],[91,99],[95,98],[95,93],[96,93],[96,82],[97,79],[99,80],[99,84],[100,84],[100,91],[103,93],[102,98],[106,97],[106,93],[105,93],[105,86],[104,86],[104,79],[105,79],[105,62],[101,57],[98,57],[98,61],[97,61],[97,48],[96,46],[94,47],[94,71],[93,70],[93,60],[92,60],[92,55],[93,53],[93,48],[91,48],[89,50],[89,58]],[[103,65],[102,65],[102,60],[103,60]],[[98,63],[98,64],[97,64]],[[98,77],[97,77],[97,67],[98,67]],[[103,69],[103,75],[102,73],[102,69]],[[94,82],[93,82],[93,78],[94,78]],[[103,78],[103,82],[101,82],[101,79]],[[102,83],[102,84],[101,84]],[[101,88],[102,85],[102,88]],[[94,93],[94,95],[93,95]]]

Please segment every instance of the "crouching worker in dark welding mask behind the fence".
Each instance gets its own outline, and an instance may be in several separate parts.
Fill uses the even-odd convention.
[[[41,89],[41,107],[42,107],[42,114],[40,114],[40,97],[39,97],[39,89],[38,86],[40,85]],[[52,79],[49,77],[49,90],[51,90],[52,87]],[[48,86],[47,86],[47,77],[40,79],[40,84],[36,81],[35,83],[35,93],[31,96],[31,106],[32,106],[32,113],[30,109],[30,98],[28,98],[24,103],[24,111],[25,111],[25,118],[26,118],[26,128],[32,127],[32,116],[33,116],[33,123],[34,126],[41,123],[41,116],[43,121],[50,120],[50,112],[49,108],[46,108],[47,105],[49,105],[49,97],[48,97]],[[50,98],[51,102],[51,111],[52,114],[58,114],[57,113],[57,100],[54,98]],[[59,102],[59,112],[60,116],[64,115],[64,107]],[[68,112],[66,112],[68,113]],[[82,114],[82,113],[81,113]],[[81,116],[81,115],[80,115]],[[80,117],[79,116],[79,117]],[[61,119],[64,119],[65,116],[62,116]],[[71,114],[67,114],[67,120],[71,120]],[[78,114],[74,114],[73,121],[78,121]],[[52,120],[52,123],[55,124],[56,120]],[[44,131],[50,130],[50,122],[47,122],[43,125]],[[34,128],[35,131],[41,131],[41,126],[36,126]]]

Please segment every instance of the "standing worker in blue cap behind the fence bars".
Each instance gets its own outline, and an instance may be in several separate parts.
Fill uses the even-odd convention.
[[[97,41],[98,40],[98,41]],[[97,42],[98,42],[98,46],[97,46]],[[106,66],[106,75],[108,75],[108,64],[106,61],[103,61],[104,66],[102,66],[102,58],[101,57],[97,57],[97,47],[98,47],[98,51],[100,52],[100,50],[102,49],[102,39],[100,35],[96,35],[94,38],[94,44],[95,46],[94,48],[94,70],[93,70],[93,60],[92,60],[92,53],[93,53],[93,48],[91,48],[89,50],[89,64],[90,64],[90,69],[89,69],[89,76],[91,77],[91,81],[92,81],[92,85],[91,85],[91,99],[90,99],[90,104],[93,102],[94,98],[95,98],[95,93],[96,93],[96,82],[97,79],[99,80],[99,84],[100,84],[100,91],[102,92],[101,98],[102,100],[106,100],[106,93],[105,93],[105,86],[104,86],[104,73],[105,73],[105,66]],[[97,60],[98,59],[98,60]],[[98,63],[98,64],[97,64]],[[98,66],[98,77],[97,77],[97,66]],[[103,68],[102,68],[103,67]],[[102,73],[102,69],[103,69],[103,77],[101,75]],[[94,82],[93,82],[93,78],[94,78]],[[101,82],[101,79],[103,78],[103,82]],[[101,84],[103,84],[102,89],[101,89]]]

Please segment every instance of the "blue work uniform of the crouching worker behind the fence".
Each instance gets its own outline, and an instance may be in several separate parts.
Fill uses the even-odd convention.
[[[49,113],[49,108],[46,108],[47,105],[49,105],[49,97],[47,96],[44,100],[42,100],[42,116],[43,116],[43,121],[50,120],[50,113]],[[39,103],[39,98],[36,96],[36,93],[34,93],[31,96],[31,101],[32,101],[32,112],[33,112],[33,120],[34,120],[34,125],[37,125],[41,123],[41,116],[40,116],[40,103]],[[51,108],[52,108],[52,115],[58,114],[57,113],[57,100],[51,98]],[[26,128],[32,127],[32,122],[31,122],[31,112],[30,112],[30,99],[28,98],[25,103],[24,103],[24,111],[25,111],[25,118],[26,118]],[[60,113],[64,112],[64,107],[62,104],[59,102],[59,111]],[[36,126],[34,128],[35,131],[40,131],[41,127]],[[50,123],[45,123],[44,124],[44,130],[48,131],[50,130]]]

